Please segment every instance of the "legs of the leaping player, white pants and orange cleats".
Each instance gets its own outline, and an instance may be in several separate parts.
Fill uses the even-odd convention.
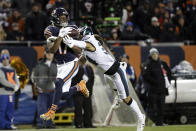
[[[87,97],[89,96],[89,92],[88,92],[88,89],[86,88],[86,83],[84,80],[78,83],[77,86],[70,88],[71,79],[78,72],[77,62],[72,61],[67,64],[63,64],[59,66],[57,65],[57,68],[58,68],[57,69],[58,72],[57,72],[57,80],[55,82],[55,94],[54,94],[53,104],[47,113],[42,114],[40,116],[44,120],[54,119],[57,105],[62,97],[63,92],[75,93],[76,89],[78,89]]]

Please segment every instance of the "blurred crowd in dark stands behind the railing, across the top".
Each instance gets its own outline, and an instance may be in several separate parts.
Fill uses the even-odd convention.
[[[195,0],[0,0],[0,40],[44,40],[51,10],[92,26],[105,40],[195,41]]]

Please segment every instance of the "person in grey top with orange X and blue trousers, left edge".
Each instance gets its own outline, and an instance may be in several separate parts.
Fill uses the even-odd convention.
[[[10,66],[8,54],[1,53],[0,68],[0,129],[13,130],[14,92],[19,89],[16,71]]]

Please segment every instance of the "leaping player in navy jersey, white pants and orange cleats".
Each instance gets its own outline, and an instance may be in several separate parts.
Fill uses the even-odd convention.
[[[54,53],[54,59],[57,62],[57,77],[53,104],[47,113],[40,115],[44,120],[54,119],[62,93],[68,92],[69,95],[72,95],[80,91],[85,97],[89,96],[84,80],[71,87],[71,79],[78,72],[78,58],[73,50],[62,42],[65,35],[71,34],[71,31],[77,30],[77,27],[68,25],[69,14],[64,8],[54,9],[51,13],[51,18],[52,24],[46,27],[44,35],[47,39],[47,48]]]

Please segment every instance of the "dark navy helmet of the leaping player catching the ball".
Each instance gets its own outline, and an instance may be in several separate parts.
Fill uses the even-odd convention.
[[[55,26],[65,27],[68,25],[69,13],[64,8],[56,8],[52,11],[51,18],[51,22]]]

